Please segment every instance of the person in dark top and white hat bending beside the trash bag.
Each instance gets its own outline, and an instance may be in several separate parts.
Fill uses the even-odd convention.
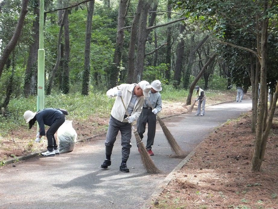
[[[39,142],[42,136],[46,135],[47,138],[47,151],[41,153],[43,156],[55,156],[59,155],[60,152],[57,149],[58,145],[55,140],[54,134],[58,128],[65,122],[65,114],[58,109],[45,108],[38,112],[32,112],[27,110],[24,113],[26,123],[29,123],[29,129],[38,121],[39,132],[36,135],[35,142]],[[45,132],[44,125],[49,126],[49,129]]]

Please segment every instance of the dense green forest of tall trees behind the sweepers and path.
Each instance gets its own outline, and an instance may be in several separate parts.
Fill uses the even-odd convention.
[[[39,4],[0,1],[2,137],[36,111]],[[277,14],[275,0],[45,1],[45,107],[87,119],[86,107],[111,108],[99,96],[107,89],[144,79],[159,79],[186,105],[195,85],[242,85],[251,88],[251,169],[260,171],[278,98]]]

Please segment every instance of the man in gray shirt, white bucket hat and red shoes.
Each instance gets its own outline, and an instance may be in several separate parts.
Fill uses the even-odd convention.
[[[137,132],[141,139],[143,139],[143,134],[146,131],[146,124],[148,124],[146,149],[149,155],[154,155],[152,151],[152,146],[156,130],[156,114],[159,113],[162,109],[162,100],[161,95],[159,93],[162,90],[162,88],[161,82],[159,80],[151,82],[150,85],[152,87],[149,92],[150,97],[147,97],[150,103],[145,98],[142,112],[137,120]],[[138,151],[140,152],[139,149]]]

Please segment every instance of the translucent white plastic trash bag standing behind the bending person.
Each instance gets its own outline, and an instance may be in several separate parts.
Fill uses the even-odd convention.
[[[65,121],[57,131],[58,150],[61,153],[71,152],[74,149],[77,133],[72,127],[72,121]]]

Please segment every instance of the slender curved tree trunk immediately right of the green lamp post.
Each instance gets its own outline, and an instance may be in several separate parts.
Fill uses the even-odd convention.
[[[65,10],[66,11],[66,10]],[[47,82],[47,87],[46,87],[46,95],[50,95],[51,93],[51,89],[52,89],[52,85],[53,85],[53,81],[56,75],[56,71],[58,69],[58,66],[60,64],[60,60],[61,60],[61,39],[62,39],[62,33],[63,33],[63,26],[64,26],[64,20],[65,20],[65,11],[64,11],[64,15],[62,18],[62,22],[61,22],[61,26],[60,26],[60,30],[59,30],[59,34],[58,34],[58,46],[57,46],[57,60],[56,60],[56,64],[52,70],[52,72],[49,75],[48,78],[48,82]]]

